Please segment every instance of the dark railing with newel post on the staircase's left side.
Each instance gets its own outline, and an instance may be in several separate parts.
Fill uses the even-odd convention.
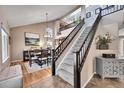
[[[55,62],[59,58],[59,56],[63,53],[63,51],[67,48],[67,46],[71,43],[74,37],[77,35],[79,30],[85,24],[84,19],[69,33],[69,35],[61,42],[61,44],[52,51],[52,75],[55,75]],[[53,66],[54,65],[54,66]]]

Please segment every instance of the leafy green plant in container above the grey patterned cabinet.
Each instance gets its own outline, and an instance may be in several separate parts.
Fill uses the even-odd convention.
[[[98,35],[96,37],[96,48],[97,49],[109,49],[109,43],[112,42],[110,34],[107,32],[105,35]]]

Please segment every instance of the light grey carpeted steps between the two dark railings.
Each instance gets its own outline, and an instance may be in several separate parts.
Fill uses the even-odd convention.
[[[91,27],[85,28],[83,33],[78,38],[77,42],[72,47],[71,51],[69,51],[68,56],[64,59],[64,61],[62,62],[62,64],[60,65],[60,67],[57,70],[57,74],[62,79],[64,79],[68,83],[70,83],[71,85],[74,85],[74,66],[73,66],[73,63],[75,61],[75,54],[73,52],[77,51],[80,48],[80,46],[82,44],[81,42],[84,41],[84,39],[88,35],[90,29],[91,29]]]

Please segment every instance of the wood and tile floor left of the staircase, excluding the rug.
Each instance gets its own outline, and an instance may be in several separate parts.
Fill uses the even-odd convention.
[[[20,64],[23,73],[23,88],[71,88],[72,86],[58,76],[51,75],[51,69],[43,69],[37,72],[28,73],[24,62],[15,62],[12,65]]]

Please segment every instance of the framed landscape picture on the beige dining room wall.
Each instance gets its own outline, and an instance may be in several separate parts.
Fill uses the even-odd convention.
[[[35,33],[25,33],[25,45],[26,46],[39,46],[40,35]]]

